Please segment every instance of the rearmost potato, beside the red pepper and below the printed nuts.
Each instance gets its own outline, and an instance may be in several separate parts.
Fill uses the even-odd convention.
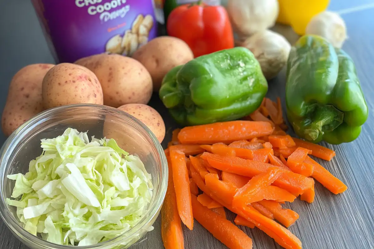
[[[187,43],[176,37],[157,37],[140,47],[132,55],[152,76],[153,90],[160,90],[163,77],[173,68],[193,59]]]

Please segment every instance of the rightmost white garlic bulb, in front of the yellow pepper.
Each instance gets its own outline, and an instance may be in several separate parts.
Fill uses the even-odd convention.
[[[347,39],[347,28],[338,13],[324,11],[314,16],[306,27],[306,34],[319,35],[332,46],[341,48]]]

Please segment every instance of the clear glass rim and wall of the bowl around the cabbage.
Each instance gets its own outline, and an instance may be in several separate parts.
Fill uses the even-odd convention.
[[[159,141],[157,140],[156,136],[151,132],[151,130],[144,125],[140,120],[135,118],[134,116],[129,115],[126,112],[120,111],[117,108],[113,108],[110,106],[103,106],[103,105],[96,105],[96,104],[74,104],[74,105],[65,105],[65,106],[58,106],[55,108],[48,109],[39,113],[38,115],[34,116],[30,120],[26,121],[20,127],[18,127],[4,142],[3,146],[0,150],[0,217],[3,219],[4,223],[7,227],[12,231],[12,233],[18,238],[21,239],[22,242],[26,242],[27,244],[31,243],[34,246],[39,246],[40,248],[53,248],[53,249],[71,249],[76,248],[76,246],[65,246],[65,245],[58,245],[55,243],[47,242],[37,236],[34,236],[31,233],[28,233],[24,228],[19,225],[19,221],[16,217],[12,214],[9,209],[9,206],[6,203],[6,196],[4,196],[2,185],[4,183],[4,178],[6,175],[4,174],[7,169],[7,162],[9,161],[10,154],[12,153],[12,148],[15,146],[15,141],[22,138],[28,132],[33,130],[34,127],[40,125],[45,118],[48,116],[58,115],[59,113],[63,113],[67,109],[79,109],[79,108],[88,108],[92,109],[95,112],[107,112],[110,115],[114,115],[117,118],[122,120],[127,120],[136,126],[137,128],[142,128],[150,137],[153,146],[156,148],[157,153],[159,155],[159,159],[161,161],[161,179],[158,186],[158,191],[154,194],[156,198],[154,199],[153,203],[150,203],[148,207],[147,213],[144,215],[142,220],[126,231],[125,233],[121,234],[120,236],[113,238],[111,240],[107,240],[105,242],[98,243],[92,246],[79,246],[79,249],[100,249],[100,248],[111,248],[114,246],[119,246],[121,242],[124,242],[128,238],[132,238],[134,234],[140,232],[142,230],[147,230],[152,224],[150,222],[155,220],[155,216],[159,214],[163,200],[165,199],[166,188],[168,184],[168,164],[166,160],[165,153]],[[155,187],[153,188],[156,189]],[[19,236],[18,234],[21,234]],[[139,238],[140,239],[140,238]]]

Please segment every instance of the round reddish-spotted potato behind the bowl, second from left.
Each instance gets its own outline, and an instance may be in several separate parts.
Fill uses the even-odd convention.
[[[50,69],[43,79],[45,109],[71,104],[103,104],[98,78],[88,68],[61,63]]]

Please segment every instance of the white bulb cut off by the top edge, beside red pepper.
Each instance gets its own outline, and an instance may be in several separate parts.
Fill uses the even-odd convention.
[[[234,30],[246,38],[275,24],[279,4],[278,0],[229,0],[227,12]]]

